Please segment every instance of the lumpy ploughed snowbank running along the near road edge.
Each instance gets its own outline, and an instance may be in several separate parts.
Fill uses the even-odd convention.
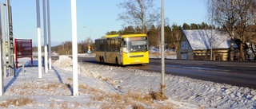
[[[66,60],[62,60],[66,61]],[[60,66],[61,64],[57,64]],[[120,92],[160,91],[161,73],[145,72],[101,64],[80,64],[82,76],[106,80]],[[206,108],[255,108],[256,91],[250,88],[195,80],[182,76],[166,75],[167,103],[178,107]]]

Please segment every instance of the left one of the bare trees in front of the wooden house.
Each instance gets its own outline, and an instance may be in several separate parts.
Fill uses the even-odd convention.
[[[234,60],[234,30],[238,23],[239,15],[237,6],[239,0],[212,0],[209,1],[209,11],[212,19],[221,25],[230,34],[230,61]]]

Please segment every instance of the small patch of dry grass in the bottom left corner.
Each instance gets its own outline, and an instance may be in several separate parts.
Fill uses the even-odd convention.
[[[15,99],[6,99],[6,101],[0,103],[0,107],[9,107],[10,105],[21,107],[29,103],[35,103],[35,100],[27,97],[20,97]]]

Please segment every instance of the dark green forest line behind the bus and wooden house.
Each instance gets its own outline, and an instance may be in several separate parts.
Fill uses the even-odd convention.
[[[208,25],[206,22],[202,22],[201,24],[191,23],[188,25],[184,23],[182,26],[173,24],[173,25],[165,25],[165,44],[167,49],[175,49],[177,50],[178,42],[182,37],[182,29],[215,29],[214,25]],[[132,25],[125,27],[124,29],[118,31],[110,31],[107,32],[107,35],[110,34],[134,34],[134,33],[143,33],[145,32],[149,45],[159,48],[160,45],[160,35],[161,35],[161,26],[151,25],[149,29],[144,29],[144,31],[137,27],[133,27]]]

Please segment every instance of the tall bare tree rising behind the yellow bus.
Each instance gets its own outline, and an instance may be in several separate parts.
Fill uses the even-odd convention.
[[[118,4],[119,8],[126,9],[126,12],[118,14],[118,20],[125,21],[124,25],[140,26],[142,33],[145,33],[146,27],[150,27],[160,18],[153,2],[154,0],[126,0]]]

